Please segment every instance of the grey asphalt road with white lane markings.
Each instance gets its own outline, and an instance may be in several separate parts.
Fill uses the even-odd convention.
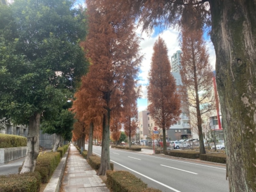
[[[85,147],[87,148],[87,146]],[[93,152],[101,154],[100,146]],[[226,166],[200,161],[150,155],[153,150],[132,152],[110,148],[110,160],[115,170],[132,172],[148,187],[170,192],[228,192]]]

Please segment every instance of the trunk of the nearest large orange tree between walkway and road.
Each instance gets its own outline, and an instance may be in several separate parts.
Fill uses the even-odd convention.
[[[109,137],[110,137],[109,120],[110,120],[110,109],[108,108],[107,115],[105,114],[103,115],[102,146],[101,146],[100,168],[99,168],[98,175],[105,175],[106,171],[111,169],[110,156],[109,156]]]

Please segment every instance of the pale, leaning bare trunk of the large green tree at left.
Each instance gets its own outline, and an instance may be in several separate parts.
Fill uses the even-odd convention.
[[[35,113],[29,118],[27,152],[24,164],[20,173],[34,172],[36,168],[36,158],[39,154],[39,126],[41,114]]]

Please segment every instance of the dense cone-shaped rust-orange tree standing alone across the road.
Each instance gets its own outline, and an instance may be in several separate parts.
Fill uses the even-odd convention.
[[[164,40],[159,37],[153,49],[149,71],[148,111],[155,124],[163,130],[163,146],[166,151],[166,129],[180,119],[180,97],[171,74],[171,64]]]

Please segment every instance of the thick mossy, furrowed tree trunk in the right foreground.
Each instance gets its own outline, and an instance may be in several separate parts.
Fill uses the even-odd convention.
[[[256,2],[210,0],[230,191],[256,191]]]

